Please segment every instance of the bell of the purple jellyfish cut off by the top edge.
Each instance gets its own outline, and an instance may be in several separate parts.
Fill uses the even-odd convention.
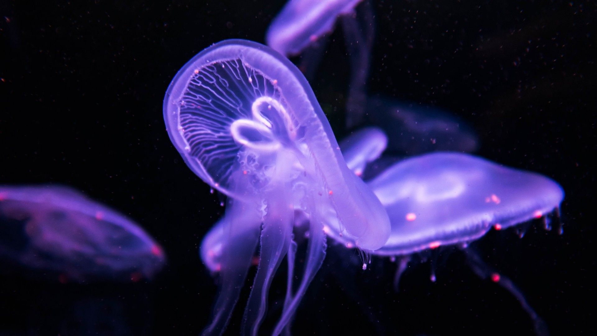
[[[334,28],[338,16],[362,0],[290,0],[267,29],[267,45],[288,56]]]

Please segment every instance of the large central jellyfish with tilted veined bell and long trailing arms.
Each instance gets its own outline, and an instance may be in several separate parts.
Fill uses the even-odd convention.
[[[287,325],[322,265],[328,219],[359,249],[386,243],[390,223],[383,206],[348,169],[304,76],[269,47],[227,40],[201,51],[168,87],[164,120],[187,166],[227,196],[220,292],[204,334],[225,328],[259,245],[242,326],[245,334],[257,334],[272,277],[285,256],[294,262],[297,208],[309,218],[306,262],[296,289],[294,276],[288,278],[274,334]]]

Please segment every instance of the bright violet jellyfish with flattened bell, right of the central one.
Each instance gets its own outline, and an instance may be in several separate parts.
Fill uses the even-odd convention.
[[[504,230],[532,219],[559,212],[562,188],[537,173],[525,172],[467,154],[437,152],[401,161],[368,182],[387,210],[392,233],[383,248],[373,255],[398,258],[395,285],[415,253],[440,246],[463,249],[467,261],[483,279],[507,289],[533,319],[537,334],[546,325],[527,303],[522,292],[503,274],[493,270],[468,243],[491,228]],[[349,246],[352,242],[337,234],[330,236]],[[432,273],[432,281],[435,274]]]

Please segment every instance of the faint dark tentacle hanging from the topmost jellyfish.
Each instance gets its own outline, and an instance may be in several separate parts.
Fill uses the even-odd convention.
[[[355,11],[341,19],[344,39],[350,54],[350,88],[346,101],[346,127],[362,123],[367,96],[367,78],[375,26],[370,1],[363,1]]]

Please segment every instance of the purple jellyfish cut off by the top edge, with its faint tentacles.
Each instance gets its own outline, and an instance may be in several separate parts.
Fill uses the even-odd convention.
[[[327,44],[325,34],[338,17],[350,55],[350,84],[346,126],[362,123],[374,38],[373,9],[369,0],[290,0],[267,29],[267,44],[285,56],[303,53],[300,65],[308,80],[315,74]]]

